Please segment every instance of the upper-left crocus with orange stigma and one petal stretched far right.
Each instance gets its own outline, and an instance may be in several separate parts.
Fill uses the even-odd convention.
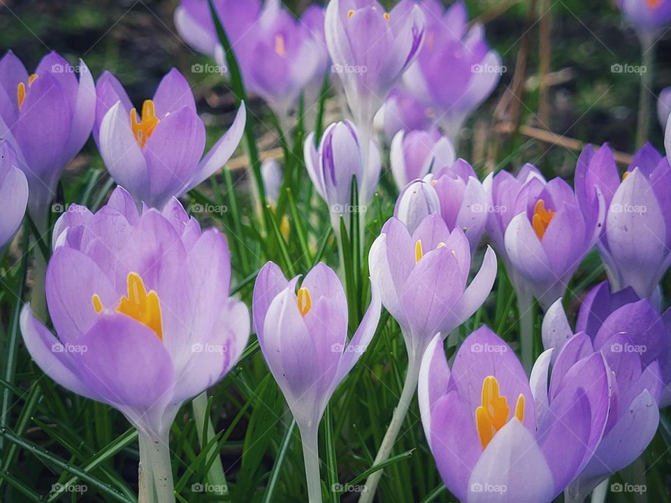
[[[189,82],[175,68],[141,112],[113,75],[103,75],[97,89],[94,136],[110,175],[138,203],[159,209],[222,168],[245,130],[243,103],[231,129],[203,156],[205,126]]]

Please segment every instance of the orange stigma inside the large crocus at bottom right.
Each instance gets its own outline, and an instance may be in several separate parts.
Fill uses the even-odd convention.
[[[475,409],[475,426],[484,449],[496,432],[503,428],[508,422],[510,407],[508,407],[505,396],[498,394],[498,381],[496,377],[488,376],[482,381],[482,405]],[[524,421],[524,395],[517,397],[514,416],[521,423]]]

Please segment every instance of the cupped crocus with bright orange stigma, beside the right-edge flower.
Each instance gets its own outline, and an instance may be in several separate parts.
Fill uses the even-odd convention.
[[[528,291],[547,309],[566,286],[598,239],[603,227],[603,198],[590,201],[584,214],[571,187],[547,182],[525,165],[514,177],[505,171],[489,175],[487,233],[520,291]]]

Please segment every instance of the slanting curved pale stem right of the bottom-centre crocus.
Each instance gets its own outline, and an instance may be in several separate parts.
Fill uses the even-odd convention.
[[[377,455],[373,461],[373,466],[380,465],[380,463],[386,461],[391,454],[391,449],[394,447],[398,432],[401,431],[401,426],[407,415],[407,410],[410,408],[410,402],[412,402],[412,398],[414,397],[414,391],[417,388],[419,365],[421,364],[421,357],[423,354],[424,351],[416,351],[414,354],[409,355],[410,361],[407,365],[407,374],[405,374],[405,383],[403,384],[403,390],[401,391],[401,398],[398,400],[394,415],[391,416],[391,423],[389,423],[387,433],[384,434],[382,444],[380,444],[380,450],[377,451]],[[377,484],[380,483],[380,477],[382,477],[382,469],[379,469],[377,472],[373,472],[368,476],[365,485],[366,490],[361,493],[359,503],[370,503],[373,501]]]

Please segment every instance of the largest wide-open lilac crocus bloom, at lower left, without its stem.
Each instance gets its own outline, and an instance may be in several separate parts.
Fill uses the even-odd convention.
[[[221,379],[247,344],[247,307],[229,298],[226,238],[201,231],[176,199],[138,214],[117,188],[95,214],[71,206],[54,245],[46,294],[57,337],[27,305],[28,351],[58,384],[164,437],[182,402]]]

